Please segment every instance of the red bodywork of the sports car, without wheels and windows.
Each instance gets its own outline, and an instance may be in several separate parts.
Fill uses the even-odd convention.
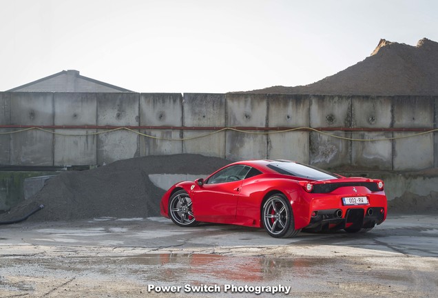
[[[205,183],[203,185],[198,185],[195,181],[176,183],[163,196],[160,202],[160,213],[169,218],[169,198],[177,190],[185,190],[193,203],[192,210],[196,221],[261,228],[263,226],[261,210],[264,200],[269,195],[280,192],[291,203],[295,229],[297,230],[312,227],[315,224],[321,225],[325,221],[327,221],[328,226],[339,222],[338,228],[341,227],[341,224],[342,227],[348,228],[351,225],[351,223],[348,224],[347,220],[348,212],[353,212],[349,210],[355,210],[354,212],[357,214],[363,212],[364,222],[368,218],[373,220],[374,224],[382,224],[386,219],[387,206],[383,187],[373,190],[366,187],[371,184],[375,186],[382,182],[381,180],[339,176],[337,179],[317,181],[275,172],[267,167],[273,162],[275,161],[262,160],[231,163],[213,172],[205,179],[208,181],[214,174],[232,165],[246,165],[261,172],[260,175],[239,181]],[[329,192],[316,193],[306,191],[304,188],[306,183],[311,183],[313,188],[335,184],[340,187]],[[346,206],[342,201],[343,197],[366,197],[368,203]],[[373,215],[373,213],[367,215],[366,212],[370,212],[370,209],[372,212],[379,212],[378,217],[377,214]],[[338,210],[342,212],[341,217],[337,217]],[[313,212],[316,212],[316,215]],[[318,212],[320,212],[321,218],[318,217]]]

